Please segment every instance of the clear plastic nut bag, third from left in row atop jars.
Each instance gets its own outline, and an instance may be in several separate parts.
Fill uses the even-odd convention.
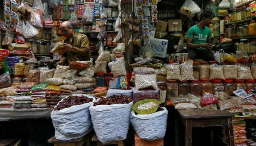
[[[225,80],[225,77],[223,74],[223,68],[221,65],[217,65],[217,64],[210,65],[210,80],[212,79]]]

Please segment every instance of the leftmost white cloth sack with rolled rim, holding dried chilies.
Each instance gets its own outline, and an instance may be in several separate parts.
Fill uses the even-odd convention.
[[[95,97],[84,94],[74,94],[70,96],[86,96],[93,99],[93,101],[90,103],[73,105],[59,111],[52,111],[51,118],[55,128],[55,137],[61,141],[83,137],[93,130],[89,107],[96,101]]]

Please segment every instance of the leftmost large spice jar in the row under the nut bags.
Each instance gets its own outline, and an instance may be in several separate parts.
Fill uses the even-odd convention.
[[[167,80],[166,82],[166,94],[167,100],[171,100],[171,97],[179,96],[177,80]]]

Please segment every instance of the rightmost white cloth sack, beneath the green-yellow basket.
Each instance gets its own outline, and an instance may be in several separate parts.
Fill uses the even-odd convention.
[[[148,115],[136,115],[132,110],[130,122],[136,134],[147,141],[154,141],[165,137],[168,111],[161,107],[163,111]]]

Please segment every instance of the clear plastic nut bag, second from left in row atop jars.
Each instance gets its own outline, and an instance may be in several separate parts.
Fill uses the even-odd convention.
[[[193,76],[193,65],[184,62],[180,65],[181,80],[195,80]]]

